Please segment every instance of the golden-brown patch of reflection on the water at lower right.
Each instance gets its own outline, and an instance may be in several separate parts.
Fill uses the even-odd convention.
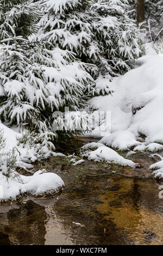
[[[145,181],[139,180],[137,191],[134,191],[136,187],[134,179],[121,179],[116,181],[116,183],[119,185],[117,191],[105,191],[105,193],[98,197],[103,203],[97,205],[97,210],[104,214],[106,220],[111,219],[118,229],[126,231],[128,238],[137,245],[147,244],[148,242],[150,245],[162,244],[163,216],[156,213],[156,209],[149,209],[147,207],[148,204],[143,204],[144,199],[146,198],[147,200],[148,198],[150,205],[150,200],[158,197],[158,194],[156,194],[157,190],[154,189],[153,194],[149,194],[148,197],[148,190],[151,191],[152,187],[149,185],[146,186]],[[146,186],[146,191],[144,190],[144,186]],[[127,202],[127,200],[119,197],[123,194],[131,194],[131,192],[133,193],[133,202],[130,200]],[[134,192],[139,194],[137,199],[134,199]],[[112,202],[118,202],[118,207],[116,204],[112,206]],[[145,231],[154,233],[154,236],[151,236],[151,240],[150,235],[148,236],[149,239],[146,240],[147,234],[145,234]]]

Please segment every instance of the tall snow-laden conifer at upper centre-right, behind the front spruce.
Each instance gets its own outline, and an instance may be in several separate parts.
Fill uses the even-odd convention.
[[[130,60],[140,56],[139,31],[126,15],[127,0],[49,0],[47,6],[38,40],[76,53],[93,78],[111,80],[132,68]],[[104,91],[109,93],[108,88]]]

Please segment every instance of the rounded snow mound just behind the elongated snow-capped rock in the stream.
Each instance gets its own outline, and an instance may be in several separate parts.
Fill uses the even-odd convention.
[[[105,144],[109,147],[119,150],[128,150],[135,145],[141,144],[136,141],[136,137],[129,131],[117,131],[105,136],[98,143]]]

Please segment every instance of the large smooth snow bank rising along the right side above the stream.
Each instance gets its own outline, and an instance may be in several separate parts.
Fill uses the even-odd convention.
[[[137,68],[114,78],[114,93],[90,100],[91,109],[111,112],[111,135],[99,143],[129,149],[141,144],[142,135],[146,146],[163,142],[163,58],[149,54],[136,60],[136,65]]]

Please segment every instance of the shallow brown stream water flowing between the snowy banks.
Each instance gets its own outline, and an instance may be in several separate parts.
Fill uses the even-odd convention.
[[[64,152],[77,153],[86,142],[73,141]],[[61,176],[65,188],[0,205],[0,245],[162,245],[163,182],[151,176],[148,155],[129,157],[140,169],[89,161],[73,166],[65,157],[37,163],[36,170]]]

